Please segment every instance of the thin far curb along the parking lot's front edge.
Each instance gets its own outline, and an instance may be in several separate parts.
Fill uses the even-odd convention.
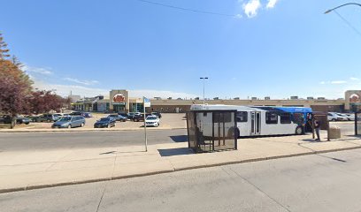
[[[187,129],[186,127],[167,127],[167,128],[148,128],[148,130],[151,130],[151,131],[160,131],[160,130],[181,130],[181,129]],[[15,130],[15,131],[9,131],[9,130],[0,130],[0,133],[81,133],[81,132],[84,132],[84,133],[88,133],[88,132],[123,132],[123,131],[143,131],[144,128],[128,128],[128,129],[115,129],[115,130],[112,130],[112,129],[87,129],[87,130],[68,130],[68,129],[57,129],[57,130],[52,130],[52,129],[49,129],[49,130]]]

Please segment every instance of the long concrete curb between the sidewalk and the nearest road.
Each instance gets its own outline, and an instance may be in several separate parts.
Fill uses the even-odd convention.
[[[253,162],[261,162],[261,161],[268,161],[268,160],[275,160],[275,159],[280,159],[280,158],[296,157],[296,156],[303,156],[303,155],[318,155],[318,154],[323,154],[323,153],[346,151],[346,150],[352,150],[352,149],[357,149],[357,148],[361,148],[361,146],[352,147],[352,148],[328,149],[328,150],[313,151],[313,152],[306,152],[306,153],[297,153],[297,154],[291,154],[291,155],[276,155],[276,156],[270,156],[270,157],[260,157],[260,158],[248,159],[248,160],[243,160],[243,161],[226,162],[226,163],[196,165],[196,166],[186,167],[186,168],[181,168],[181,169],[150,171],[150,172],[142,173],[142,174],[115,176],[115,177],[111,177],[111,178],[97,178],[97,179],[87,179],[87,180],[79,180],[79,181],[73,181],[73,182],[58,183],[58,184],[6,188],[6,189],[0,189],[0,193],[14,193],[14,192],[42,189],[42,188],[57,187],[57,186],[73,186],[73,185],[79,185],[79,184],[96,183],[96,182],[110,181],[110,180],[123,179],[123,178],[138,178],[138,177],[152,176],[152,175],[157,175],[157,174],[171,173],[171,172],[181,171],[181,170],[196,170],[196,169],[217,167],[217,166],[223,166],[223,165],[253,163]]]

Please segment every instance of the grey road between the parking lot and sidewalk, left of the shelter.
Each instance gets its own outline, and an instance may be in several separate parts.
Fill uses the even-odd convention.
[[[188,142],[187,130],[147,131],[148,144]],[[61,148],[113,148],[141,146],[144,131],[65,132],[65,133],[0,133],[0,151],[42,150]]]

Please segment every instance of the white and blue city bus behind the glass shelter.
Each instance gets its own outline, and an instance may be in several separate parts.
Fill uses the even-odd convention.
[[[266,136],[266,135],[288,135],[303,134],[308,131],[311,119],[311,108],[305,107],[272,107],[272,106],[238,106],[238,105],[207,105],[194,104],[190,110],[202,110],[197,113],[196,120],[202,122],[200,131],[208,134],[211,132],[213,121],[212,113],[207,110],[236,110],[237,127],[229,125],[227,133],[229,136],[235,133],[237,137],[243,136]],[[230,116],[230,115],[229,115]],[[233,117],[228,117],[234,120]],[[217,136],[217,135],[216,135]]]

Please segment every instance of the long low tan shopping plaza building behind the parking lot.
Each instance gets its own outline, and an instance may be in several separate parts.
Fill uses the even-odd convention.
[[[103,95],[95,97],[81,98],[79,95],[69,96],[73,103],[73,110],[93,111],[93,112],[142,112],[142,98],[130,96],[127,90],[111,90],[110,98],[104,98]],[[285,107],[311,107],[314,111],[335,111],[349,112],[359,110],[361,105],[361,90],[349,90],[345,92],[345,98],[329,100],[323,97],[306,99],[291,96],[288,99],[273,100],[270,97],[258,99],[251,97],[247,100],[239,98],[234,99],[207,99],[207,104],[227,104],[227,105],[253,105],[253,106],[285,106]],[[150,98],[150,108],[146,110],[159,111],[164,113],[186,112],[192,104],[202,104],[204,101],[199,98],[194,99],[162,99],[159,97]]]

